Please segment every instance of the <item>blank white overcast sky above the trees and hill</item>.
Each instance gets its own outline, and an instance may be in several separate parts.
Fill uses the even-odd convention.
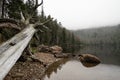
[[[44,0],[44,12],[70,30],[120,24],[120,0]]]

